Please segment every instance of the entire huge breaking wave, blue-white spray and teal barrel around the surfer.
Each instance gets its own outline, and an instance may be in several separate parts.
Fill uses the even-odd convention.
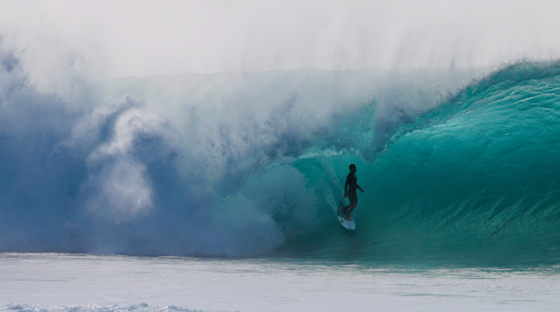
[[[0,250],[559,260],[556,62],[118,78],[83,103],[0,57]]]

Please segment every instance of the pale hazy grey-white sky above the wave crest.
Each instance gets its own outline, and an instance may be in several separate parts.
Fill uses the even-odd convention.
[[[560,1],[0,1],[36,75],[487,66],[560,55]]]

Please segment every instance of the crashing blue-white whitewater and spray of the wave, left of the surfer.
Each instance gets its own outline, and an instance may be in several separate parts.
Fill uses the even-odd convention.
[[[470,79],[418,95],[413,76],[375,71],[186,74],[108,80],[82,101],[39,92],[0,53],[0,249],[18,251],[269,253],[317,230],[316,181],[294,159],[374,157],[380,131]]]

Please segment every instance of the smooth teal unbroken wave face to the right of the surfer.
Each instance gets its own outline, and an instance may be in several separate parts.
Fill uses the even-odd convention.
[[[356,234],[322,248],[367,260],[558,262],[559,73],[557,63],[510,66],[400,125],[379,155],[365,146],[316,168],[302,159],[311,180],[355,162],[367,190]]]

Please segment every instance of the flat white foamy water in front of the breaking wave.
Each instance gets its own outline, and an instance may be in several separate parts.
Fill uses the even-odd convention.
[[[556,311],[559,267],[0,253],[0,311]],[[24,303],[25,302],[25,303]]]

